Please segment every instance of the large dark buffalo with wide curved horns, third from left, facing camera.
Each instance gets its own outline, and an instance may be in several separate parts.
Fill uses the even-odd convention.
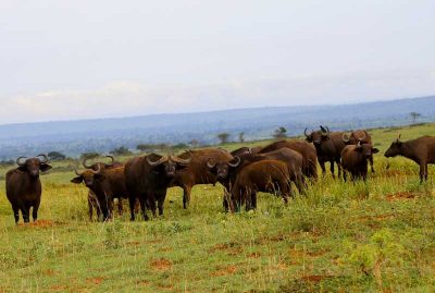
[[[125,181],[128,191],[130,208],[130,220],[135,220],[135,202],[139,199],[140,209],[145,220],[147,205],[156,216],[156,200],[158,202],[159,215],[163,215],[163,204],[166,197],[166,188],[174,179],[177,171],[189,164],[191,158],[178,158],[176,156],[160,156],[150,154],[136,157],[125,164]]]

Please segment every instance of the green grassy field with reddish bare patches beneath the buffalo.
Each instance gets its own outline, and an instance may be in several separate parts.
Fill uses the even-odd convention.
[[[399,132],[435,124],[372,130],[381,154],[366,184],[327,175],[288,206],[261,194],[254,212],[224,213],[222,186],[198,185],[188,210],[171,188],[164,217],[90,222],[86,187],[54,163],[40,220],[15,227],[1,181],[0,292],[434,292],[435,170],[422,185],[412,161],[386,170]]]

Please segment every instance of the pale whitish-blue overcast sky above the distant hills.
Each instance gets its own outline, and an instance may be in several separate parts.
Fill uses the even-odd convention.
[[[435,94],[433,0],[2,0],[0,124]]]

